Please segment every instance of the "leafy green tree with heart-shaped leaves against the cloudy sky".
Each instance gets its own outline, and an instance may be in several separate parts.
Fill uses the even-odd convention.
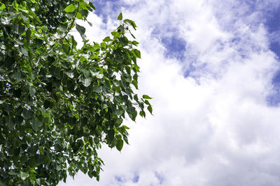
[[[87,0],[1,1],[0,185],[57,185],[79,170],[99,180],[97,150],[121,150],[123,120],[152,113],[151,98],[134,93],[135,23],[120,13],[112,36],[90,43],[76,20],[92,10]]]

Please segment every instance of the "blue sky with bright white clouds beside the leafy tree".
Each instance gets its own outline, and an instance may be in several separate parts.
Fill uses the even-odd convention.
[[[280,1],[94,1],[87,38],[134,20],[139,94],[154,116],[130,126],[121,152],[102,146],[97,182],[59,186],[279,186]],[[78,36],[78,35],[77,35]]]

